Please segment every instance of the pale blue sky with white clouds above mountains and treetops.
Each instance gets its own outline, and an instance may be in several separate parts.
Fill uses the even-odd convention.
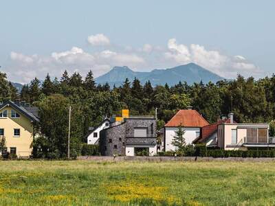
[[[0,71],[12,82],[98,77],[195,62],[223,76],[271,76],[275,1],[3,1]]]

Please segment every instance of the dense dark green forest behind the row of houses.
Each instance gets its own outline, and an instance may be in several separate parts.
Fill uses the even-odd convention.
[[[235,80],[200,82],[192,85],[179,82],[153,87],[128,79],[122,85],[96,84],[92,71],[65,71],[60,80],[49,74],[42,82],[34,78],[19,92],[0,73],[0,102],[21,100],[39,106],[40,122],[36,125],[41,138],[34,141],[47,156],[64,157],[67,151],[69,106],[72,106],[71,151],[78,154],[89,126],[97,126],[104,117],[120,115],[129,108],[130,115],[154,115],[157,108],[157,129],[162,128],[179,109],[192,106],[208,122],[234,113],[239,123],[270,123],[275,119],[275,75],[255,80],[239,75]],[[37,154],[36,154],[37,155]]]

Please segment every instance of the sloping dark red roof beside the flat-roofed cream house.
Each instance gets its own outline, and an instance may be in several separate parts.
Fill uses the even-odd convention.
[[[192,143],[196,144],[208,139],[208,137],[217,132],[219,124],[223,123],[230,123],[230,119],[221,119],[218,122],[215,122],[214,124],[203,126],[203,128],[201,129],[201,135],[199,135],[199,137],[197,137],[197,139],[195,139]]]

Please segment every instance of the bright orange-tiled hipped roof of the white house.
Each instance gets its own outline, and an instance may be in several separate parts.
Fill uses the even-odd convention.
[[[203,127],[209,125],[197,111],[192,109],[179,110],[164,126]]]

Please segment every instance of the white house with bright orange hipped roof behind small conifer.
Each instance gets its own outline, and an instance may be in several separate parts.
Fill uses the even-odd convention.
[[[164,151],[177,150],[172,145],[172,141],[180,125],[185,132],[184,138],[186,145],[188,145],[200,136],[201,129],[208,126],[209,123],[191,106],[188,106],[186,110],[179,110],[164,126]]]

